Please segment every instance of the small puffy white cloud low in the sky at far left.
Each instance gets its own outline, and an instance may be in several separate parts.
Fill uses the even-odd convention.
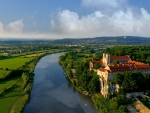
[[[17,20],[15,22],[11,22],[9,23],[6,27],[5,27],[5,31],[7,33],[21,33],[22,29],[24,27],[24,24],[22,22],[22,20]]]

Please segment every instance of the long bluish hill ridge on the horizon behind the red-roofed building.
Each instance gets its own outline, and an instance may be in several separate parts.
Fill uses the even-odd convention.
[[[53,40],[53,43],[60,44],[74,44],[74,43],[87,43],[87,44],[149,44],[150,38],[136,37],[136,36],[118,36],[118,37],[95,37],[95,38],[82,38],[82,39],[59,39]]]

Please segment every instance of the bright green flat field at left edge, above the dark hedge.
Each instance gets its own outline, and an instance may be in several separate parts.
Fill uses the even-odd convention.
[[[17,69],[34,58],[9,58],[0,61],[0,68]]]

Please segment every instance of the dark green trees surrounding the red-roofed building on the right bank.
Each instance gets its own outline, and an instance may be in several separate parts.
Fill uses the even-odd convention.
[[[106,48],[101,51],[82,50],[72,51],[60,56],[59,62],[71,80],[73,86],[84,94],[91,96],[95,107],[101,113],[126,113],[127,105],[133,102],[126,98],[126,93],[143,91],[150,96],[150,76],[142,75],[140,72],[116,73],[115,79],[110,82],[121,85],[119,92],[109,92],[105,99],[100,94],[99,78],[94,71],[89,70],[89,61],[101,59],[102,53],[111,55],[130,55],[133,60],[150,63],[150,46],[118,46]],[[95,64],[95,68],[99,65]],[[75,72],[73,71],[75,70]],[[86,92],[86,93],[85,93]],[[148,99],[144,99],[145,105],[149,107]]]

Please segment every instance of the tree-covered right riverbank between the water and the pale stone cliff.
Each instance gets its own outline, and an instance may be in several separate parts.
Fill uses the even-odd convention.
[[[108,97],[104,98],[100,94],[100,82],[97,73],[89,69],[88,57],[84,57],[79,62],[78,59],[80,59],[80,56],[81,53],[70,52],[59,58],[60,64],[72,85],[82,94],[90,96],[95,108],[99,112],[127,112],[126,105],[128,102],[125,95],[117,92],[113,95],[108,93]],[[76,73],[74,74],[72,70],[75,70]]]

